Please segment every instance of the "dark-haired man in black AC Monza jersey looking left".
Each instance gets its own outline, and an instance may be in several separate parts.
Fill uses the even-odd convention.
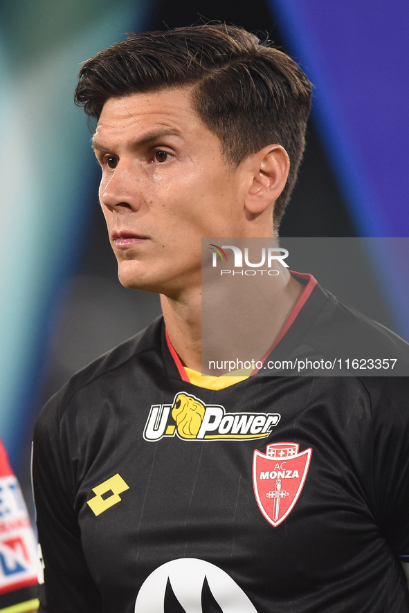
[[[199,372],[201,237],[277,235],[307,78],[244,30],[198,26],[102,51],[76,100],[98,121],[120,281],[160,293],[163,319],[39,418],[39,610],[407,613],[406,378]],[[268,298],[267,358],[325,355],[340,319],[405,359],[309,275],[283,267]]]

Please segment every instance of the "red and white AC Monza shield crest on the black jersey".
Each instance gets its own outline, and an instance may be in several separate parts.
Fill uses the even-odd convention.
[[[271,443],[253,455],[255,500],[266,520],[277,527],[289,516],[307,479],[312,449],[298,443]]]

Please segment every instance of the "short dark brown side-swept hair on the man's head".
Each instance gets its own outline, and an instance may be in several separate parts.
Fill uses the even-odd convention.
[[[75,104],[98,119],[108,98],[192,86],[194,108],[235,166],[266,145],[287,150],[290,172],[275,203],[280,222],[305,148],[311,83],[291,58],[235,26],[208,24],[131,35],[81,68]]]

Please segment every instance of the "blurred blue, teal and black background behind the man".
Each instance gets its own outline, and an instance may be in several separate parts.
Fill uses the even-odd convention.
[[[3,1],[0,434],[28,502],[39,408],[159,313],[155,295],[117,281],[90,134],[72,102],[80,62],[130,31],[210,20],[272,39],[315,84],[282,237],[409,235],[406,1]],[[362,249],[379,293],[370,314],[408,339],[408,241]]]

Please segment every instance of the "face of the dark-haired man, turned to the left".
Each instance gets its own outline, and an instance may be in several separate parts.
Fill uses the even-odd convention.
[[[244,205],[239,168],[224,161],[189,90],[110,98],[93,147],[120,282],[167,295],[199,287],[201,237],[242,236]]]

